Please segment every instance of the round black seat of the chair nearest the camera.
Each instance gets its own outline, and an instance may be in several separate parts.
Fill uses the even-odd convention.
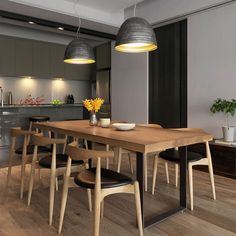
[[[94,189],[96,179],[96,168],[90,168],[81,171],[75,178],[74,181],[77,185]],[[101,168],[101,188],[112,188],[132,184],[133,180],[123,174],[117,173],[112,170]]]

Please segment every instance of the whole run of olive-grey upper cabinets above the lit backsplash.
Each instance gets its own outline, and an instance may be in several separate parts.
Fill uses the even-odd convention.
[[[66,45],[0,36],[0,76],[90,80],[92,65],[64,63]]]

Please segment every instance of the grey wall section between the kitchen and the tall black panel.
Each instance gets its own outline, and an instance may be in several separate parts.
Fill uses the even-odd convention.
[[[120,53],[112,47],[111,112],[113,120],[148,122],[147,62],[147,53]]]

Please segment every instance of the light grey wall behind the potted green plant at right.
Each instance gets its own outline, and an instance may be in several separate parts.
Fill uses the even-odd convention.
[[[236,98],[236,3],[188,19],[188,125],[221,137],[223,114],[216,98]],[[236,125],[236,118],[231,119]]]

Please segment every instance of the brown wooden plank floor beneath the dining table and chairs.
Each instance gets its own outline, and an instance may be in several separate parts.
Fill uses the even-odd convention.
[[[178,204],[178,189],[173,185],[173,169],[170,168],[171,183],[165,182],[164,168],[158,167],[156,194],[152,196],[151,170],[149,159],[149,192],[145,194],[145,214],[161,212]],[[29,175],[30,168],[27,168]],[[122,162],[122,172],[130,173],[127,159]],[[26,184],[24,200],[19,200],[20,168],[13,168],[13,176],[8,192],[5,191],[7,169],[0,169],[0,236],[52,236],[57,235],[62,182],[55,199],[53,226],[48,225],[49,175],[42,171],[39,181],[36,175],[31,206],[27,207]],[[186,210],[162,223],[146,229],[145,236],[233,236],[236,235],[236,180],[215,176],[217,200],[212,200],[210,181],[207,173],[194,171],[194,211]],[[92,235],[93,214],[87,210],[87,194],[83,189],[69,191],[63,225],[63,235]],[[133,195],[114,195],[105,200],[104,219],[101,235],[138,235],[135,220]]]

